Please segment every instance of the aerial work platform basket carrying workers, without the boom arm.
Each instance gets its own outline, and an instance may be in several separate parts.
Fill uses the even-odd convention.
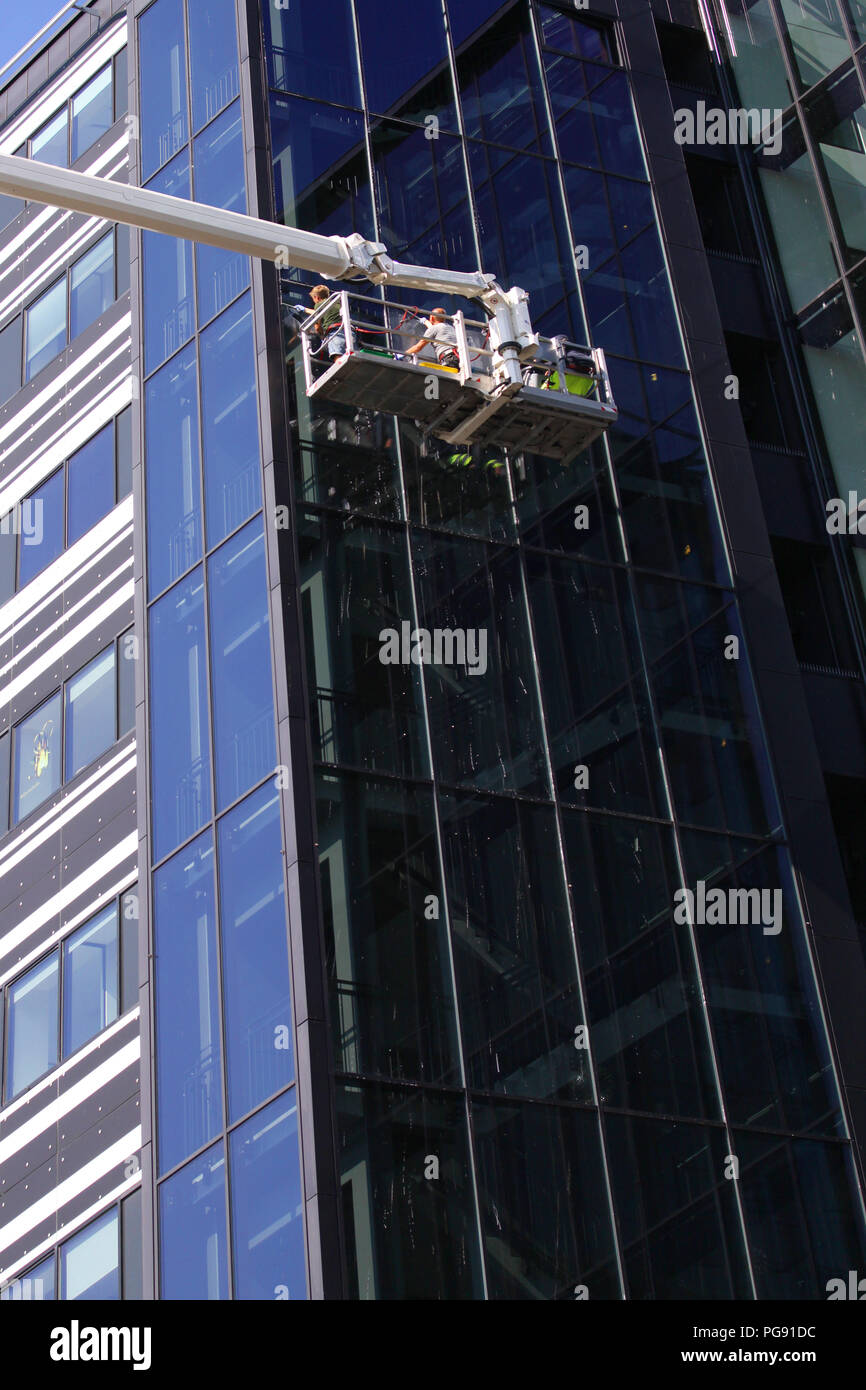
[[[453,445],[559,460],[573,459],[616,421],[601,349],[538,338],[520,353],[514,382],[498,371],[485,322],[463,313],[446,322],[450,352],[430,342],[410,356],[407,348],[428,331],[418,311],[349,291],[331,295],[299,324],[307,396],[416,420]]]

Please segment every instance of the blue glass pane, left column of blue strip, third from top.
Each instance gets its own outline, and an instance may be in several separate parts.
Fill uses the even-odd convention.
[[[190,343],[145,392],[147,585],[150,595],[202,559],[199,373]]]

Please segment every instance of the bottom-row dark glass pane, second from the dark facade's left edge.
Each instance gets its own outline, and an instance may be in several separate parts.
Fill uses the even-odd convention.
[[[596,1116],[473,1101],[473,1130],[488,1297],[619,1298]]]

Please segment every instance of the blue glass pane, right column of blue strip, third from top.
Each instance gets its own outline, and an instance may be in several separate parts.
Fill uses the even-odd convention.
[[[261,506],[253,311],[249,295],[202,334],[207,545]]]

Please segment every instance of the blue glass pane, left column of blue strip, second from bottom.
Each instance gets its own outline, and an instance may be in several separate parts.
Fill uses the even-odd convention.
[[[214,848],[210,833],[154,874],[160,1172],[222,1127]]]

